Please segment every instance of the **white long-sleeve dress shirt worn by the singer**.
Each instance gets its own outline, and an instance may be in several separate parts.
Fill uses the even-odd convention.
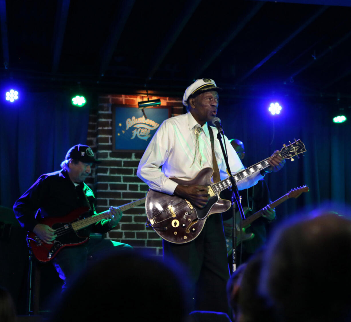
[[[199,135],[199,152],[196,152],[196,135],[194,128],[200,126],[190,112],[165,120],[152,137],[143,157],[140,160],[137,176],[154,190],[172,195],[178,183],[169,179],[175,177],[182,180],[193,179],[201,169],[213,167],[212,147],[207,123]],[[214,136],[214,154],[216,155],[221,180],[229,175],[222,150],[217,139],[218,130],[211,127]],[[232,174],[244,169],[237,153],[225,135],[229,166]],[[223,140],[223,139],[222,139]],[[193,163],[195,156],[195,162]],[[192,164],[193,163],[193,164]],[[162,167],[161,167],[162,166]],[[160,168],[161,167],[161,168]],[[256,185],[262,176],[257,173],[237,183],[238,189],[246,189]]]

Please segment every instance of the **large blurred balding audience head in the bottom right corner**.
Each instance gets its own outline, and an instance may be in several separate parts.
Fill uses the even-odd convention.
[[[351,321],[350,284],[350,217],[318,210],[274,234],[260,289],[279,321]]]

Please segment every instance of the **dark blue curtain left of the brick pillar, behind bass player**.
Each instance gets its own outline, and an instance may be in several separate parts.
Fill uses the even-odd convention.
[[[86,143],[89,105],[69,93],[27,93],[0,107],[0,205],[12,207],[37,178],[60,169],[67,150]]]

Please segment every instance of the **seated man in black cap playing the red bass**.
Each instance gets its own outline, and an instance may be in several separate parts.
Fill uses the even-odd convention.
[[[86,145],[78,144],[69,149],[61,163],[61,171],[41,175],[15,202],[13,210],[21,226],[28,232],[34,232],[45,243],[52,244],[57,237],[55,230],[39,223],[40,218],[64,217],[83,206],[90,208],[90,215],[95,215],[95,197],[84,180],[90,174],[92,164],[98,162],[92,149]],[[111,207],[108,213],[110,219],[90,226],[92,232],[108,232],[121,220],[119,209]],[[88,256],[98,260],[107,253],[126,248],[131,249],[131,246],[105,239],[91,239],[78,246],[63,248],[52,260],[64,280],[62,289],[86,267]]]

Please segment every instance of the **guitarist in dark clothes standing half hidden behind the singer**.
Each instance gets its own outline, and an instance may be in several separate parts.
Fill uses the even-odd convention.
[[[230,140],[231,145],[237,152],[240,160],[244,160],[245,157],[245,147],[243,142],[237,139]],[[269,206],[271,202],[269,189],[266,182],[262,178],[257,182],[256,185],[240,191],[241,195],[241,205],[249,208],[248,212],[245,212],[245,217],[248,218],[250,215],[256,213],[258,210],[263,209],[262,217],[255,220],[249,228],[245,230],[245,233],[253,233],[254,237],[251,240],[246,240],[236,247],[236,259],[237,264],[246,262],[249,257],[256,252],[258,248],[263,246],[266,241],[267,235],[267,223],[276,219],[276,210]],[[231,200],[231,192],[229,190],[224,190],[221,193],[222,199]],[[244,209],[245,210],[245,209]],[[232,238],[232,208],[227,210],[222,214],[224,233],[226,240],[231,240]],[[241,255],[241,256],[240,256]],[[229,262],[232,262],[232,256],[229,256]]]

